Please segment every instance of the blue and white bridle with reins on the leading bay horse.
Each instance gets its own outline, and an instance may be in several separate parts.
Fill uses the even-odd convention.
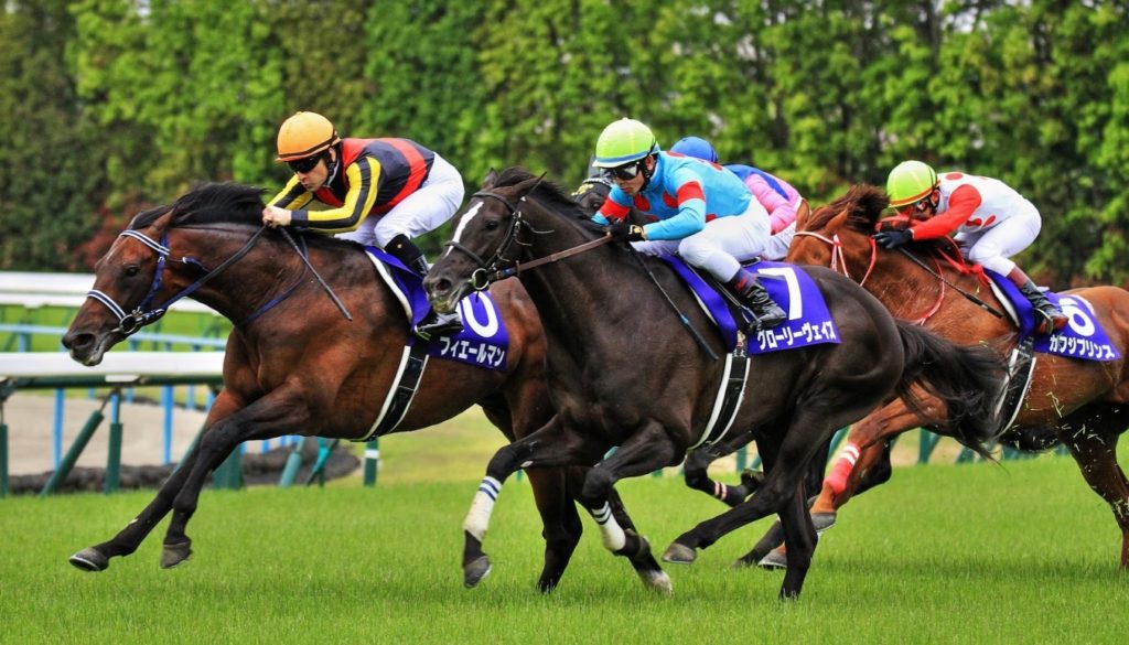
[[[239,249],[238,251],[236,251],[230,258],[228,258],[227,260],[225,260],[219,267],[216,267],[215,269],[212,269],[210,271],[208,270],[207,267],[204,267],[199,260],[196,260],[194,258],[187,258],[187,256],[180,258],[180,259],[175,259],[174,258],[173,260],[176,261],[176,262],[181,262],[181,263],[184,263],[184,264],[190,264],[190,265],[193,265],[193,267],[196,267],[196,268],[203,270],[204,271],[204,276],[202,276],[195,282],[193,282],[193,284],[189,285],[187,287],[181,289],[178,293],[176,293],[175,295],[173,295],[173,297],[170,297],[169,299],[165,300],[165,304],[161,305],[161,306],[159,306],[159,307],[152,307],[152,302],[156,299],[157,293],[160,290],[161,284],[164,282],[165,265],[168,262],[169,256],[172,254],[172,250],[168,247],[168,233],[167,232],[163,233],[161,236],[160,236],[160,241],[158,242],[158,241],[156,241],[156,239],[154,239],[154,238],[151,238],[151,237],[142,234],[139,230],[132,230],[132,229],[130,229],[130,230],[123,230],[123,232],[121,232],[117,235],[119,237],[129,237],[129,238],[132,238],[132,239],[137,239],[138,242],[140,242],[141,244],[145,244],[154,253],[157,254],[157,269],[154,272],[152,282],[150,282],[150,285],[149,285],[149,293],[147,293],[145,295],[145,297],[141,298],[141,302],[138,304],[138,306],[134,307],[133,311],[131,311],[129,313],[125,312],[124,307],[122,307],[116,302],[114,302],[113,298],[111,298],[104,291],[99,291],[98,289],[90,289],[87,293],[86,297],[93,298],[93,299],[102,303],[115,316],[117,316],[117,326],[114,328],[114,329],[112,329],[112,330],[110,330],[110,333],[121,333],[123,337],[132,335],[132,334],[137,333],[137,331],[140,330],[141,328],[143,328],[143,326],[146,326],[148,324],[151,324],[151,323],[156,322],[157,320],[159,320],[161,316],[164,316],[165,313],[168,311],[168,307],[172,306],[173,303],[180,300],[181,298],[184,298],[184,297],[187,297],[187,296],[192,295],[193,293],[196,291],[196,289],[199,289],[200,287],[202,287],[205,284],[208,284],[208,281],[210,281],[216,276],[220,274],[228,267],[230,267],[231,264],[235,264],[236,262],[238,262],[244,255],[247,254],[247,252],[251,251],[251,247],[255,245],[255,242],[259,241],[259,236],[261,236],[263,234],[263,230],[265,230],[265,229],[266,229],[266,227],[263,226],[259,230],[256,230],[255,234],[252,235],[250,239],[247,239],[247,242],[243,245],[242,249]],[[275,298],[274,300],[268,303],[266,305],[264,305],[263,307],[261,307],[260,311],[257,311],[254,314],[252,314],[251,317],[254,317],[254,316],[257,316],[257,315],[262,314],[263,311],[265,311],[266,308],[270,308],[270,307],[274,306],[275,304],[278,304],[278,302],[280,302],[280,300],[278,298]]]

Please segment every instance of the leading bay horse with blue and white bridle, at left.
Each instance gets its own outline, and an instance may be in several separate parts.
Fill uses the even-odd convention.
[[[111,558],[132,554],[169,511],[161,566],[180,564],[191,554],[185,526],[200,489],[240,442],[286,434],[360,438],[380,412],[409,340],[403,306],[359,245],[304,236],[308,261],[352,313],[347,321],[282,233],[261,229],[262,208],[257,189],[207,184],[172,207],[139,215],[99,260],[94,289],[100,296],[86,302],[63,338],[76,360],[99,363],[113,345],[155,320],[169,299],[186,294],[227,316],[235,329],[224,360],[224,390],[196,450],[120,533],[72,556],[75,566],[105,569]],[[510,441],[552,417],[536,310],[517,281],[498,285],[491,295],[509,333],[506,371],[430,360],[394,432],[438,424],[475,403]],[[546,541],[542,590],[560,579],[580,538],[571,498],[583,477],[530,472]],[[618,499],[613,511],[630,522]],[[640,566],[658,564],[651,559]]]

